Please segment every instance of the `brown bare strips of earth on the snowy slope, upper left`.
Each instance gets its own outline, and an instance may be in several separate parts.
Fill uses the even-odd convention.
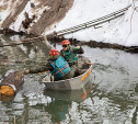
[[[28,16],[30,12],[24,12],[25,19],[22,21],[19,27],[19,32],[21,31],[22,26],[24,29],[24,32],[27,32],[28,34],[42,35],[46,31],[46,29],[50,27],[54,23],[59,22],[66,15],[73,3],[73,0],[35,1],[36,3],[30,3],[30,0],[13,1],[14,5],[11,7],[11,12],[2,22],[1,27],[9,30],[9,27],[14,24],[20,14],[23,12],[26,4],[30,4],[33,15]],[[7,7],[8,4],[2,5],[2,8]],[[35,19],[36,21],[34,21]]]

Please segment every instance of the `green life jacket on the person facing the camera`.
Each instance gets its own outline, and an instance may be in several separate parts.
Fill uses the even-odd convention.
[[[71,47],[69,47],[68,52],[61,50],[61,55],[70,65],[76,64],[78,60],[77,54],[73,52]]]

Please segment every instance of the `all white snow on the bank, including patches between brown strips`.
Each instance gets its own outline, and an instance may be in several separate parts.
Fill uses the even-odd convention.
[[[10,29],[15,31],[24,31],[22,27],[22,21],[25,20],[25,12],[28,13],[30,18],[32,18],[33,14],[37,15],[37,19],[34,20],[34,22],[36,22],[44,10],[50,9],[50,7],[42,7],[34,12],[31,8],[31,2],[38,4],[38,1],[28,1],[22,13],[18,16],[18,20],[10,25]],[[8,4],[10,2],[8,2]],[[3,0],[0,2],[0,5],[1,4],[3,4]],[[77,38],[85,42],[96,41],[124,46],[138,46],[138,9],[134,11],[134,8],[138,7],[138,0],[74,0],[72,8],[69,10],[66,16],[59,23],[51,25],[49,31],[46,29],[44,34],[48,34],[54,31],[57,32],[95,20],[124,9],[130,4],[131,7],[126,11],[125,15],[112,20],[110,23],[106,22],[104,24],[100,24],[96,26],[96,29],[89,27],[87,30],[81,30],[79,32],[65,35],[65,37]],[[2,24],[4,19],[9,15],[9,8],[0,12],[0,24]],[[30,32],[30,29],[25,32]]]

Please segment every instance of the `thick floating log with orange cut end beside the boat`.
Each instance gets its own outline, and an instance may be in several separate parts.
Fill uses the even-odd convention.
[[[0,83],[0,93],[2,95],[14,95],[24,82],[21,71],[10,72]]]

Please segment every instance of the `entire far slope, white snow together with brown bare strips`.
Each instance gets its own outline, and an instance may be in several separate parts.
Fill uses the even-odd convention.
[[[95,20],[131,4],[123,16],[112,20],[110,23],[103,23],[95,29],[81,30],[65,35],[65,37],[138,46],[138,0],[59,0],[59,2],[49,0],[43,2],[43,0],[1,0],[0,29],[9,27],[16,32],[23,31],[38,35],[48,34]],[[23,10],[19,8],[20,5]],[[72,8],[68,11],[69,5]],[[15,14],[18,10],[20,12]],[[66,14],[66,12],[68,13]],[[27,13],[27,18],[25,18],[25,13]],[[27,24],[26,27],[24,24]]]

